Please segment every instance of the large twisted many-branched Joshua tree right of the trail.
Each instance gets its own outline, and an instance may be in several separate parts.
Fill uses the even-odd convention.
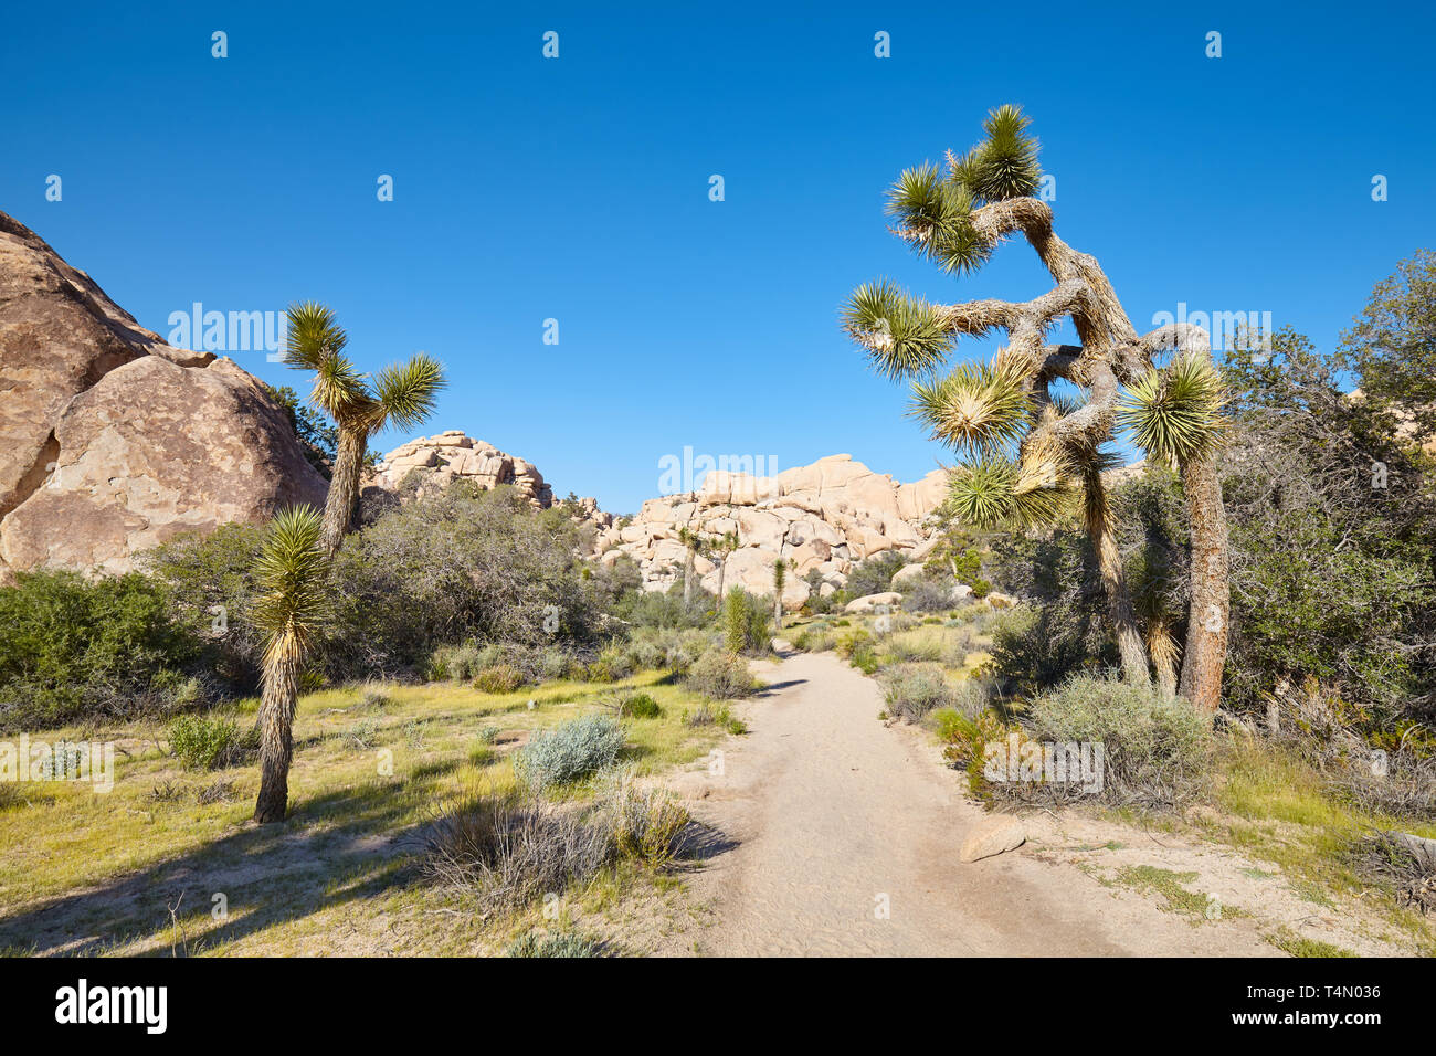
[[[1206,335],[1198,328],[1166,326],[1139,335],[1122,307],[1097,260],[1073,250],[1053,230],[1053,210],[1034,197],[1041,182],[1038,145],[1028,135],[1030,119],[1015,106],[992,111],[984,122],[985,138],[966,154],[951,151],[945,165],[925,162],[906,170],[892,187],[887,211],[892,231],[920,256],[945,272],[964,274],[981,269],[999,243],[1021,234],[1047,267],[1055,286],[1028,302],[974,300],[938,305],[912,297],[889,282],[856,289],[844,306],[844,328],[873,363],[890,379],[912,382],[912,417],[932,437],[956,448],[965,466],[952,477],[954,507],[976,527],[1025,527],[1051,523],[1080,500],[1080,510],[1101,576],[1109,616],[1126,677],[1150,680],[1147,651],[1137,625],[1122,559],[1113,513],[1101,471],[1113,464],[1104,450],[1122,412],[1123,386],[1143,381],[1163,394],[1173,389],[1175,372],[1211,369]],[[1078,345],[1053,345],[1048,330],[1068,316]],[[981,338],[1002,332],[1007,343],[988,363],[959,363],[938,374],[961,336]],[[1160,352],[1176,346],[1178,358],[1156,369]],[[1196,363],[1199,366],[1179,366]],[[1054,394],[1066,379],[1084,394],[1078,402]],[[1199,395],[1186,389],[1188,398]],[[1209,394],[1208,394],[1209,395]],[[1205,421],[1215,432],[1219,407],[1155,399],[1132,407],[1147,418],[1186,417]],[[1178,407],[1180,404],[1180,407]],[[1202,431],[1192,425],[1195,431]],[[1209,448],[1208,448],[1209,450]],[[1209,471],[1211,470],[1211,471]],[[1199,613],[1196,599],[1226,596],[1225,550],[1215,562],[1202,547],[1225,533],[1221,491],[1209,458],[1193,458],[1183,473],[1188,509],[1202,511],[1193,546],[1193,609],[1189,626],[1213,626],[1209,612]],[[1221,688],[1221,655],[1225,655],[1225,603],[1219,606],[1221,632],[1192,648],[1186,664],[1202,667],[1190,685],[1202,687],[1196,703],[1215,708]],[[1208,619],[1198,621],[1198,615]],[[1215,634],[1215,632],[1198,632]],[[1218,645],[1221,648],[1218,648]],[[1215,681],[1211,665],[1216,664]],[[1183,685],[1189,684],[1183,670]]]

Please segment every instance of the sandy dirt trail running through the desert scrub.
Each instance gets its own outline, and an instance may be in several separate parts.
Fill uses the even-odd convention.
[[[691,772],[675,786],[737,846],[694,878],[711,914],[658,953],[1275,953],[1239,921],[1195,927],[1044,861],[1043,840],[959,862],[982,810],[929,738],[877,721],[872,680],[831,654],[755,670],[771,688],[740,708],[751,733],[728,741],[721,774]]]

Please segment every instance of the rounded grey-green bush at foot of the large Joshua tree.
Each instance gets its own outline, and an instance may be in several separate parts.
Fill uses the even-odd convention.
[[[1212,726],[1180,697],[1111,677],[1076,675],[1022,714],[1032,740],[1103,746],[1100,799],[1178,807],[1200,792],[1212,761]],[[1005,789],[1017,789],[1012,783]],[[1057,795],[1055,786],[1037,786]],[[1031,792],[1031,787],[1027,789]],[[1074,793],[1076,789],[1067,789]]]

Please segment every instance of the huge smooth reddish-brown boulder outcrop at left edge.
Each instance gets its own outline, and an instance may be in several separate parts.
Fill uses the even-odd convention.
[[[0,579],[123,572],[187,530],[322,504],[263,385],[171,348],[0,213]]]

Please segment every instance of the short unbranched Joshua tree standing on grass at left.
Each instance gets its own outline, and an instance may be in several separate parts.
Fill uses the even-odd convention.
[[[299,674],[327,616],[329,556],[323,522],[307,506],[270,523],[254,572],[260,595],[254,625],[264,635],[260,700],[260,795],[256,822],[281,822],[289,805],[289,763],[294,753]]]

